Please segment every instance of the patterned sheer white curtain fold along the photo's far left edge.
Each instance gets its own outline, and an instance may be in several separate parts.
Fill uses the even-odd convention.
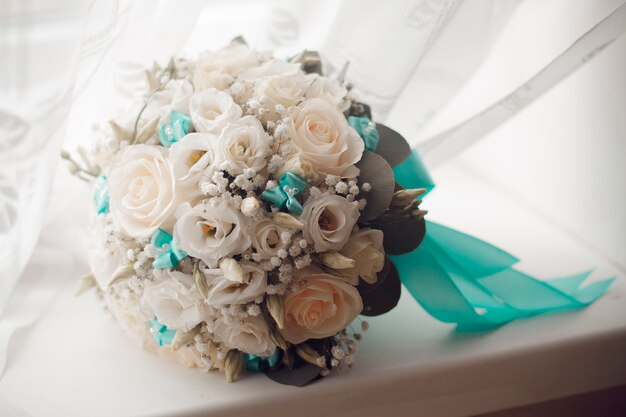
[[[42,227],[88,11],[79,0],[2,2],[0,314]]]

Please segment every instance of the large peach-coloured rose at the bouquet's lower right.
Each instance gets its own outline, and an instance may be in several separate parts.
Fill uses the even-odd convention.
[[[285,327],[291,343],[334,336],[345,329],[363,309],[352,285],[309,267],[298,276],[300,286],[285,296]]]

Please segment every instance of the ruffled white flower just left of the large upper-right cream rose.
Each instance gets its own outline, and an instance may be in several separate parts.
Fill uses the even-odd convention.
[[[271,138],[254,116],[245,116],[228,124],[218,142],[218,154],[225,161],[225,168],[232,175],[239,175],[245,169],[255,172],[267,164]]]

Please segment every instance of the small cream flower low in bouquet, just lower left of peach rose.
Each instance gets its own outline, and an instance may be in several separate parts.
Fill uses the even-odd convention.
[[[276,345],[270,339],[269,327],[263,317],[248,316],[228,323],[219,318],[213,335],[228,348],[259,356],[270,356]]]

